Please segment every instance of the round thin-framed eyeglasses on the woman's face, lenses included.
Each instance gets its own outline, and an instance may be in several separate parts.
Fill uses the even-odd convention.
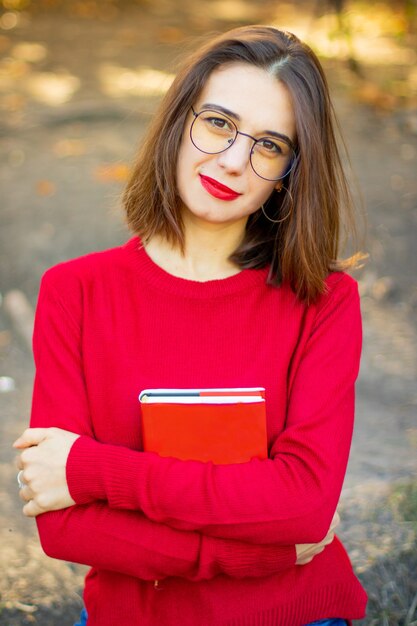
[[[295,146],[289,140],[279,137],[261,137],[242,133],[227,115],[211,109],[204,109],[194,115],[190,128],[190,138],[200,152],[219,154],[228,150],[238,135],[253,140],[250,151],[250,164],[257,176],[264,180],[276,181],[285,178],[296,160]]]

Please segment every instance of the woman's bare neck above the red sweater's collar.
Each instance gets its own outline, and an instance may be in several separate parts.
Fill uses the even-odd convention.
[[[207,281],[228,278],[240,271],[229,260],[244,235],[246,220],[232,224],[201,224],[184,220],[185,248],[172,246],[159,236],[153,237],[145,249],[162,269],[188,280]]]

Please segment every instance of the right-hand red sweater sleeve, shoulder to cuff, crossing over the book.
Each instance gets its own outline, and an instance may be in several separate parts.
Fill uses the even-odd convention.
[[[346,472],[362,340],[357,284],[331,278],[294,354],[286,426],[270,458],[213,465],[82,437],[68,461],[74,500],[105,498],[177,529],[258,544],[320,541]]]

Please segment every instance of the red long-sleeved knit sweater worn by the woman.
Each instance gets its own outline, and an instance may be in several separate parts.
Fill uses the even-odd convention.
[[[32,426],[81,433],[77,505],[39,518],[42,546],[92,567],[88,626],[301,626],[360,618],[366,595],[326,534],[345,475],[361,349],[357,285],[300,303],[267,270],[196,282],[134,237],[49,270],[34,333]],[[265,387],[269,458],[213,465],[142,451],[149,387]],[[154,586],[154,580],[160,581]]]

